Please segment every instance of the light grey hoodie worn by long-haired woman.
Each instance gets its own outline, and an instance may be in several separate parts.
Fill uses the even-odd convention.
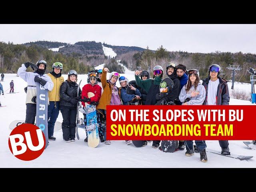
[[[188,105],[202,105],[204,103],[206,91],[202,84],[198,83],[196,90],[199,92],[199,94],[195,97],[191,97],[191,93],[195,91],[194,85],[191,86],[188,92],[186,92],[185,89],[186,85],[184,85],[180,91],[180,102],[184,102],[186,98],[190,98],[190,101],[186,102]]]

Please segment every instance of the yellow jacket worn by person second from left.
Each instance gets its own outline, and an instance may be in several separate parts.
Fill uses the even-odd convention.
[[[60,77],[54,77],[52,74],[47,74],[54,84],[52,91],[48,92],[49,101],[60,101],[60,86],[64,82],[64,78],[62,76]]]

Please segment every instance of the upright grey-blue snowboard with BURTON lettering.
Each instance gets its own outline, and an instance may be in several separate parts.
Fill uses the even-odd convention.
[[[45,149],[48,146],[48,90],[36,82],[36,126],[45,136]]]

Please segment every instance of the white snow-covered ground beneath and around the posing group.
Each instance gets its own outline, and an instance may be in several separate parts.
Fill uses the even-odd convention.
[[[102,68],[103,64],[96,67]],[[135,80],[134,73],[121,74],[129,80]],[[66,80],[67,75],[63,75]],[[109,73],[107,75],[109,78]],[[81,88],[87,83],[87,75],[78,75]],[[13,120],[24,120],[26,117],[26,82],[16,74],[5,74],[1,82],[5,93],[9,92],[10,81],[14,80],[16,94],[0,96],[0,167],[1,168],[256,168],[256,150],[250,150],[242,141],[229,141],[230,152],[239,155],[254,156],[252,159],[237,160],[207,153],[208,162],[201,162],[200,155],[185,156],[184,151],[164,153],[158,148],[152,148],[152,142],[142,148],[135,148],[133,144],[126,145],[125,141],[111,141],[110,145],[100,143],[96,148],[89,148],[84,143],[85,131],[79,129],[80,140],[66,143],[62,140],[62,130],[54,132],[56,141],[50,145],[43,154],[32,161],[22,161],[14,157],[8,147],[8,137],[11,130],[8,125]],[[120,86],[117,82],[117,86]],[[235,86],[235,89],[239,86]],[[252,105],[249,101],[230,99],[230,105]],[[254,105],[254,104],[253,104]],[[81,117],[82,115],[80,115]],[[62,122],[61,113],[57,121]],[[220,150],[218,141],[206,141],[207,147]]]

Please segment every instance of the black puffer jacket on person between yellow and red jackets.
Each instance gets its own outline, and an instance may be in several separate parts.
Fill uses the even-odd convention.
[[[72,98],[77,97],[77,88],[78,84],[75,82],[68,82],[67,80],[63,82],[60,86],[60,106],[66,106],[66,107],[74,107],[76,108],[76,105],[72,104],[70,101]],[[78,96],[81,97],[82,91],[79,88],[79,94]]]

